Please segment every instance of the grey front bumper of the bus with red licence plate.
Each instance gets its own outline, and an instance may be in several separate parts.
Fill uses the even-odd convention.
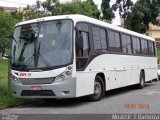
[[[19,98],[75,98],[76,78],[52,84],[23,85],[11,80],[12,92]],[[32,89],[41,88],[41,89]]]

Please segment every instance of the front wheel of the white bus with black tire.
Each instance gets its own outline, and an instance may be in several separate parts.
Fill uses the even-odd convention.
[[[104,82],[101,77],[96,76],[94,83],[94,94],[89,95],[90,101],[99,101],[105,94]]]

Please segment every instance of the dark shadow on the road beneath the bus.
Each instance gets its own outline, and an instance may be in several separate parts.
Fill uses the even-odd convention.
[[[154,84],[146,83],[145,88],[152,87]],[[144,89],[145,89],[144,88]],[[108,99],[115,97],[120,94],[126,94],[129,92],[133,91],[138,91],[140,89],[137,89],[137,86],[128,86],[128,87],[123,87],[123,88],[118,88],[114,90],[110,90],[106,92],[106,95],[103,99]],[[43,99],[43,100],[38,100],[38,102],[32,104],[32,105],[27,105],[25,107],[53,107],[53,108],[61,108],[61,107],[77,107],[80,105],[85,105],[85,104],[91,104],[87,97],[80,97],[80,98],[72,98],[72,99]]]

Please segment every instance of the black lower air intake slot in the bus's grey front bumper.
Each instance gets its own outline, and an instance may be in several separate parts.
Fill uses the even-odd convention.
[[[55,96],[52,90],[23,90],[21,96]]]

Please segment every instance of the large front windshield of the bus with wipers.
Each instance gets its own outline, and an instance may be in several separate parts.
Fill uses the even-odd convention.
[[[17,26],[14,30],[11,66],[41,69],[72,62],[72,21],[54,20]]]

